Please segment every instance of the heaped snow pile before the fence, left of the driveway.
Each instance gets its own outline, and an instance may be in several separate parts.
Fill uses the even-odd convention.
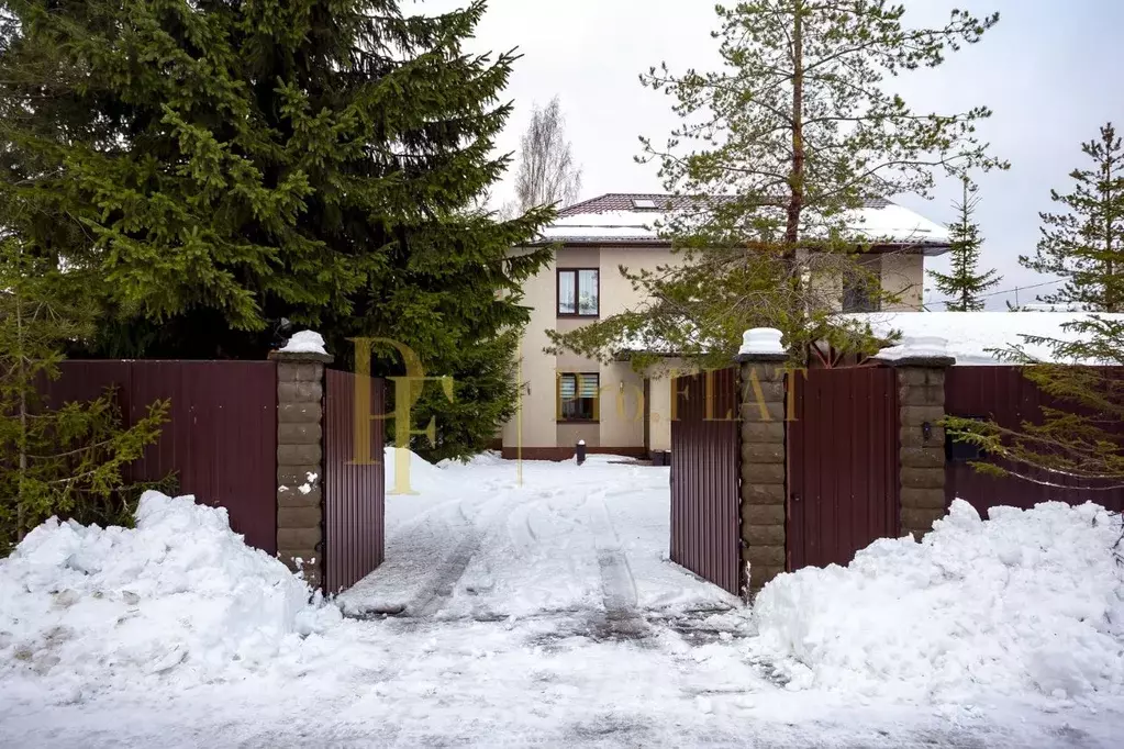
[[[81,689],[255,669],[338,621],[224,509],[146,492],[136,529],[48,520],[0,560],[0,673]]]

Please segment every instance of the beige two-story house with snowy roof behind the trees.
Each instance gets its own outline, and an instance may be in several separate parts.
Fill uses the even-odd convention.
[[[565,459],[578,440],[590,453],[646,456],[671,446],[671,378],[637,373],[626,362],[608,365],[571,353],[544,353],[546,330],[572,330],[590,320],[634,309],[643,300],[620,274],[678,262],[653,225],[669,205],[659,194],[606,194],[562,210],[542,237],[554,259],[526,284],[533,308],[522,355],[522,418],[502,429],[505,457],[522,444],[527,459]],[[895,310],[919,310],[924,259],[949,249],[944,227],[892,202],[870,201],[854,220],[870,239],[865,263],[882,287],[899,296]],[[863,294],[840,289],[840,309],[871,311]]]

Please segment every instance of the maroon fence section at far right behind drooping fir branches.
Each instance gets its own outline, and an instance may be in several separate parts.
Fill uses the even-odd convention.
[[[1124,377],[1124,371],[1120,376]],[[1068,408],[1039,391],[1018,366],[951,367],[944,378],[944,408],[950,415],[988,419],[1000,427],[1017,428],[1024,421],[1041,423],[1042,405]],[[996,465],[1015,467],[1003,460],[996,460]],[[988,508],[1028,509],[1051,500],[1069,504],[1093,501],[1116,512],[1124,510],[1124,490],[1099,491],[1091,488],[1096,484],[1087,479],[1030,466],[1017,469],[1034,481],[981,474],[966,460],[950,459],[945,463],[945,502],[951,504],[960,497],[984,517]]]

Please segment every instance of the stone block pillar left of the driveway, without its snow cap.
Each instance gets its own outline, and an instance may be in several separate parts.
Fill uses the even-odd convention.
[[[303,570],[312,587],[324,575],[324,365],[319,353],[271,351],[278,365],[278,556]]]

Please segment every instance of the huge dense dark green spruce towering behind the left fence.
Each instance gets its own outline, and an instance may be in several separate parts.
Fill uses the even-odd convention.
[[[0,40],[0,203],[28,252],[97,268],[96,355],[263,358],[283,321],[395,339],[437,457],[511,409],[522,282],[550,220],[472,210],[507,167],[492,143],[515,57],[462,48],[484,3],[18,0]],[[0,208],[0,210],[3,210]],[[401,372],[395,349],[375,373]],[[448,411],[456,409],[455,413]]]

